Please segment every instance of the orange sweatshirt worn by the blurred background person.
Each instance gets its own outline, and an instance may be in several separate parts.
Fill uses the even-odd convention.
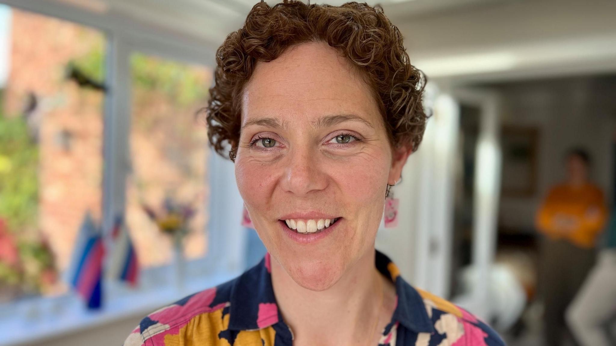
[[[553,239],[591,248],[607,219],[601,189],[590,183],[582,187],[556,185],[537,212],[537,228]]]

